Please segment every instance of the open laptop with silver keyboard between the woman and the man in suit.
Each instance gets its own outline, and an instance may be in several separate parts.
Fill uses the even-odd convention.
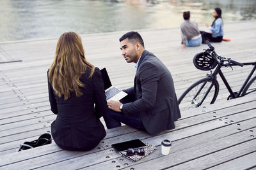
[[[100,72],[102,74],[102,79],[104,81],[104,90],[105,90],[107,101],[110,101],[110,100],[119,101],[120,99],[127,96],[127,93],[112,86],[106,68],[101,69]]]

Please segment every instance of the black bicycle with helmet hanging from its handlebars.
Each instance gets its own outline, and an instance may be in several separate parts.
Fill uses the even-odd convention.
[[[230,95],[229,99],[234,99],[237,97],[245,96],[252,92],[256,91],[256,75],[251,79],[255,69],[256,62],[246,62],[241,63],[230,58],[226,59],[225,57],[221,57],[218,55],[214,47],[206,41],[209,48],[204,50],[204,52],[197,53],[193,58],[193,63],[197,69],[201,69],[204,71],[210,71],[209,74],[205,78],[202,78],[193,85],[191,85],[179,98],[179,106],[180,108],[184,108],[184,110],[188,110],[190,108],[197,108],[202,105],[202,103],[210,103],[213,104],[216,101],[216,97],[218,96],[218,92],[220,89],[220,85],[217,81],[217,75],[219,74],[223,83],[225,84]],[[228,81],[226,80],[224,74],[221,71],[221,67],[231,67],[232,66],[241,66],[244,65],[252,65],[253,69],[244,81],[239,92],[233,92]],[[212,69],[216,69],[212,73]],[[233,69],[233,68],[232,68]]]

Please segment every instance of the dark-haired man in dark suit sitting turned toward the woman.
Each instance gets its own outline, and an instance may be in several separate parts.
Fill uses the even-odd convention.
[[[144,49],[138,32],[127,32],[119,41],[124,59],[136,63],[137,71],[134,87],[124,90],[127,97],[108,102],[104,116],[108,129],[120,126],[120,122],[153,135],[174,129],[180,110],[170,71]]]

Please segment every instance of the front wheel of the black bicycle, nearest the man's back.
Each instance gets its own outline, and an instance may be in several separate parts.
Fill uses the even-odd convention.
[[[212,86],[212,87],[211,87]],[[209,89],[211,87],[211,89]],[[207,94],[207,90],[209,93]],[[191,85],[179,98],[181,111],[199,107],[204,103],[214,103],[219,92],[218,81],[212,81],[211,77],[202,78]],[[206,96],[205,96],[206,95]]]

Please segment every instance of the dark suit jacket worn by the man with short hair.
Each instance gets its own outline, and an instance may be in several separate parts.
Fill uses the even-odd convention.
[[[179,104],[170,71],[153,53],[145,50],[140,57],[134,87],[124,90],[136,101],[123,105],[125,115],[140,113],[149,134],[174,129],[180,118]]]

